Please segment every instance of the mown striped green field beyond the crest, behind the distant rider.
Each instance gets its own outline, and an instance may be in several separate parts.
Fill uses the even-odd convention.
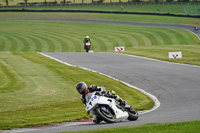
[[[1,20],[0,28],[0,51],[83,52],[83,37],[89,35],[95,52],[125,46],[127,54],[200,65],[199,39],[181,29],[23,20]],[[174,51],[182,51],[183,58],[169,60]]]

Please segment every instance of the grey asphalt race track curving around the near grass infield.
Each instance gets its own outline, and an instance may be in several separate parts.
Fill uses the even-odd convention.
[[[34,19],[35,20],[35,19]],[[40,19],[41,20],[41,19]],[[55,21],[55,20],[52,20]],[[57,20],[56,20],[57,21]],[[59,20],[60,21],[60,20]],[[74,20],[64,20],[74,21]],[[77,20],[78,21],[78,20]],[[82,20],[82,22],[96,20]],[[102,21],[101,21],[102,22]],[[110,23],[104,21],[103,23]],[[193,26],[112,22],[115,24],[176,27],[194,32]],[[158,109],[139,116],[137,121],[114,124],[76,122],[52,125],[51,127],[28,128],[4,132],[54,133],[147,123],[166,123],[200,120],[200,67],[163,62],[138,56],[115,53],[44,53],[60,61],[89,68],[137,86],[156,96],[161,105]]]

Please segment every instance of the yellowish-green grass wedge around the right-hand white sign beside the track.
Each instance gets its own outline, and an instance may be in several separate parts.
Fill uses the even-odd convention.
[[[126,50],[125,54],[145,56],[149,58],[184,63],[191,65],[200,65],[200,45],[172,45],[172,46],[150,46],[150,47],[133,47]],[[169,59],[168,52],[181,51],[182,59]]]

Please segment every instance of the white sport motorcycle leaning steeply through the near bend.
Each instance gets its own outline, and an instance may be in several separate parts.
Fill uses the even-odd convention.
[[[97,92],[88,93],[86,95],[86,111],[94,115],[93,122],[100,123],[105,121],[107,123],[120,122],[123,120],[135,121],[138,119],[138,112],[126,104],[125,107],[119,105],[119,103],[113,99],[100,95]],[[98,118],[100,121],[94,121]]]

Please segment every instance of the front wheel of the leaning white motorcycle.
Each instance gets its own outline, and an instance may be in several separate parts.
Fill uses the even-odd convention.
[[[99,106],[95,114],[107,123],[114,123],[116,120],[114,111],[109,106]]]

